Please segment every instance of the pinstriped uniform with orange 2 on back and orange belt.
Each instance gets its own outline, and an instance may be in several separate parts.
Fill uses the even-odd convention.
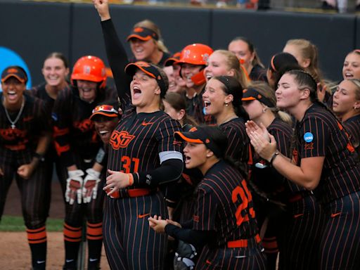
[[[207,231],[209,237],[195,269],[266,269],[252,196],[241,179],[237,169],[219,161],[196,188],[190,229]],[[179,238],[181,229],[167,225],[165,231]],[[181,240],[193,243],[194,239]]]

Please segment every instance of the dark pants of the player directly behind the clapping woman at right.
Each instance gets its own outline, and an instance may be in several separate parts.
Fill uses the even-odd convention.
[[[288,205],[283,234],[278,238],[279,269],[318,269],[324,216],[314,195]]]

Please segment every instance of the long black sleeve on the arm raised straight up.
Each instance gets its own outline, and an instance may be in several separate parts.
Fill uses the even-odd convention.
[[[124,46],[122,46],[122,43],[117,36],[113,20],[104,20],[101,22],[101,27],[103,29],[106,54],[108,56],[110,68],[113,72],[117,95],[120,98],[122,110],[124,111],[130,103],[129,89],[131,77],[124,71],[129,60]]]

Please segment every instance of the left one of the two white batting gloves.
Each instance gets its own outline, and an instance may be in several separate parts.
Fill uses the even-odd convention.
[[[77,203],[82,203],[82,176],[84,172],[81,169],[68,171],[69,178],[66,179],[65,200],[73,205],[77,198]]]

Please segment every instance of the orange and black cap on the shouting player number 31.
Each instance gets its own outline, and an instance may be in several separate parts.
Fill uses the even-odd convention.
[[[143,61],[138,61],[135,63],[129,63],[125,67],[125,72],[127,73],[127,75],[134,76],[136,70],[138,69],[145,72],[146,75],[156,79],[156,82],[158,82],[158,86],[160,87],[161,97],[163,98],[167,91],[167,85],[158,68],[155,67],[155,65]]]

